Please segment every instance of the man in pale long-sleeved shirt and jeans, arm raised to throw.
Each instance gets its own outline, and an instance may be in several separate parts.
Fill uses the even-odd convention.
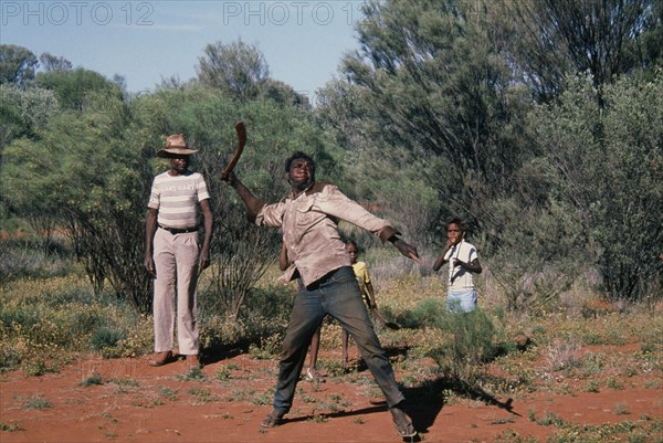
[[[407,257],[418,257],[417,250],[398,238],[399,232],[328,182],[315,181],[315,161],[297,151],[285,161],[292,192],[280,202],[266,204],[253,197],[232,171],[221,178],[241,197],[249,219],[259,226],[282,228],[292,265],[285,279],[301,277],[303,285],[291,313],[282,344],[274,409],[262,421],[264,428],[281,424],[293,405],[295,388],[306,359],[311,338],[325,315],[336,318],[350,333],[376,382],[382,390],[393,424],[402,437],[417,431],[403,411],[404,397],[393,369],[372,328],[366,305],[338,233],[338,220],[346,220],[390,242]]]

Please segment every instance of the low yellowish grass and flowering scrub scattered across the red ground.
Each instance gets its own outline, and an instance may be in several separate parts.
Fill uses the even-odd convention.
[[[399,260],[399,259],[394,259]],[[91,294],[86,294],[83,282],[74,277],[46,277],[39,281],[15,281],[12,288],[4,289],[1,296],[8,299],[0,307],[2,318],[13,318],[12,330],[2,329],[4,355],[13,352],[13,365],[7,358],[4,370],[22,368],[27,373],[39,376],[56,368],[53,363],[46,365],[46,359],[36,358],[38,352],[25,352],[31,342],[40,349],[50,349],[54,342],[59,345],[59,365],[74,361],[80,355],[92,348],[94,337],[106,336],[108,325],[113,330],[130,331],[129,324],[123,316],[131,313],[122,304],[113,303],[106,306],[94,302]],[[262,283],[262,292],[269,293],[272,283]],[[620,314],[612,312],[598,313],[593,316],[582,315],[577,309],[587,298],[578,300],[578,305],[565,305],[566,312],[560,310],[547,314],[528,316],[516,313],[505,313],[499,309],[497,300],[484,297],[481,310],[472,315],[449,315],[441,309],[439,296],[439,278],[435,275],[418,276],[409,273],[393,275],[389,281],[380,282],[381,289],[378,299],[385,313],[398,319],[404,327],[400,330],[380,330],[380,339],[389,350],[389,357],[400,376],[400,383],[407,392],[413,392],[418,401],[431,404],[441,402],[453,404],[467,401],[480,401],[488,404],[501,404],[498,399],[519,398],[536,392],[549,394],[575,395],[578,392],[600,395],[606,390],[629,389],[634,377],[644,377],[642,388],[660,389],[662,371],[663,347],[656,337],[663,335],[663,325],[655,321],[656,312],[646,306],[631,306]],[[24,292],[29,287],[31,292]],[[287,303],[292,293],[277,288],[274,296],[282,297],[282,303]],[[30,294],[30,295],[28,295]],[[11,295],[11,297],[9,297]],[[31,316],[30,310],[22,308],[29,303],[33,310],[41,316]],[[246,321],[242,328],[246,337],[243,349],[249,358],[264,361],[264,368],[246,371],[236,362],[220,365],[212,373],[200,368],[193,368],[175,376],[180,382],[194,383],[187,388],[186,395],[170,387],[151,388],[143,386],[131,378],[104,379],[99,373],[88,372],[81,383],[90,389],[94,386],[114,383],[119,387],[119,392],[134,397],[130,402],[137,408],[159,408],[167,403],[187,401],[190,404],[206,404],[210,402],[246,402],[255,407],[266,407],[273,400],[273,387],[266,389],[233,389],[243,380],[255,378],[275,377],[276,365],[281,346],[281,337],[286,324],[285,316],[272,316],[260,312],[260,304],[254,305],[252,315],[263,318],[264,329],[261,324]],[[284,309],[284,313],[286,310]],[[45,318],[51,319],[49,327],[44,327]],[[62,326],[55,327],[53,318],[59,318]],[[95,318],[103,318],[97,320]],[[135,318],[129,315],[129,318]],[[204,316],[203,329],[211,331],[211,325],[217,327],[224,319],[215,316]],[[269,319],[269,324],[266,324]],[[19,323],[22,321],[22,323]],[[76,321],[75,325],[70,321]],[[32,325],[32,326],[31,326]],[[81,336],[71,339],[69,344],[60,337],[71,337],[66,334],[66,325],[78,328]],[[124,339],[101,340],[107,349],[122,349],[124,355],[143,355],[149,351],[151,330],[149,318],[140,320]],[[250,326],[249,326],[250,325]],[[39,329],[41,328],[41,329]],[[249,329],[250,328],[250,329]],[[102,333],[97,333],[102,330]],[[339,348],[340,327],[336,321],[326,323],[323,329],[323,348]],[[214,334],[214,333],[212,333]],[[588,340],[587,337],[591,336]],[[220,339],[222,336],[218,335]],[[230,335],[228,336],[230,337]],[[524,339],[523,337],[526,337]],[[618,337],[619,339],[615,339]],[[112,337],[110,337],[112,338]],[[596,348],[597,342],[610,347],[620,344],[633,345],[634,352],[618,352],[610,347]],[[141,346],[137,346],[141,344]],[[230,340],[229,345],[238,346],[242,341]],[[206,355],[213,355],[215,347],[204,349]],[[130,350],[130,351],[129,351]],[[46,352],[46,355],[50,355]],[[108,358],[108,354],[101,352]],[[427,360],[428,359],[428,360]],[[428,361],[428,362],[425,362]],[[431,366],[431,361],[434,362]],[[329,380],[352,383],[369,398],[381,395],[360,361],[351,366],[349,373],[340,369],[340,360],[323,356],[318,360],[319,370],[326,373]],[[32,369],[32,372],[28,370]],[[575,381],[573,381],[575,380]],[[325,389],[320,389],[325,388]],[[299,404],[312,408],[307,419],[312,422],[326,422],[329,414],[345,411],[351,403],[339,394],[328,394],[327,387],[323,384],[302,382],[298,387],[297,401]],[[25,409],[50,408],[51,402],[43,395],[23,399]],[[611,405],[614,416],[630,416],[631,408],[625,403]],[[227,415],[232,416],[232,415]],[[536,412],[529,410],[528,420],[546,428],[549,431],[550,442],[567,441],[572,435],[579,435],[576,441],[600,441],[600,435],[613,435],[628,441],[649,442],[648,436],[653,435],[656,426],[661,426],[657,418],[641,419],[623,422],[621,425],[585,426],[578,428],[568,418],[562,418],[550,411]],[[354,419],[354,423],[361,424],[365,418]],[[487,422],[493,425],[515,426],[517,421],[513,416],[492,419]],[[629,428],[631,423],[631,428]],[[15,423],[14,423],[15,424]],[[15,424],[18,426],[18,424]],[[11,423],[7,424],[7,432],[15,430]],[[627,437],[627,429],[631,436]],[[13,432],[13,431],[11,431]],[[644,437],[643,437],[644,436]],[[511,440],[509,440],[511,439]],[[623,440],[622,439],[622,440]],[[644,439],[644,440],[643,440]],[[504,442],[535,442],[530,435],[522,435],[516,431],[502,431],[496,441]]]

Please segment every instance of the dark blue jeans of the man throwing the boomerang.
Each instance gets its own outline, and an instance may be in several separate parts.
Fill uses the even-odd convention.
[[[393,407],[403,401],[391,363],[361,300],[355,273],[350,266],[344,266],[309,287],[302,287],[295,299],[282,345],[274,409],[282,414],[291,410],[311,338],[327,314],[336,318],[357,344],[387,404]]]

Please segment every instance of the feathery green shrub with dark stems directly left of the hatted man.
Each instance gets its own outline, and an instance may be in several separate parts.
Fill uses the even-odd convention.
[[[83,112],[52,116],[41,137],[4,151],[2,183],[22,217],[55,218],[95,294],[112,287],[140,313],[151,308],[144,254],[148,158],[125,133],[130,115],[115,93],[88,93]]]

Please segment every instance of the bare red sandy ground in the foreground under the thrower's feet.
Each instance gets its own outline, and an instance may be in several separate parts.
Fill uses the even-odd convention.
[[[629,351],[629,349],[625,349]],[[333,356],[330,358],[336,358]],[[25,377],[22,372],[0,376],[1,442],[400,442],[390,413],[375,387],[357,382],[368,371],[326,379],[317,384],[302,381],[293,411],[283,425],[263,430],[260,421],[271,410],[276,362],[248,355],[207,361],[204,380],[182,378],[183,361],[151,368],[146,358],[104,360],[90,357],[59,373]],[[228,378],[218,377],[220,372]],[[82,386],[98,373],[101,384]],[[350,376],[355,382],[350,382]],[[404,375],[397,370],[400,380]],[[422,375],[420,375],[423,377]],[[492,442],[513,430],[523,441],[540,442],[555,432],[528,414],[541,418],[551,412],[565,421],[581,424],[639,421],[648,415],[663,418],[663,392],[644,382],[657,375],[624,379],[624,389],[604,388],[585,392],[518,395],[508,411],[482,401],[456,400],[450,404],[418,402],[417,391],[406,390],[413,403],[411,414],[423,442]],[[168,393],[175,393],[168,395]],[[256,405],[255,398],[267,404]],[[243,395],[243,397],[242,397]],[[48,408],[25,409],[34,399],[45,399]],[[317,399],[317,402],[314,401]],[[338,400],[337,408],[329,408]],[[260,402],[259,402],[260,404]],[[503,403],[504,404],[504,403]],[[628,414],[618,414],[622,404]],[[320,415],[324,414],[324,415]],[[622,434],[623,436],[624,434]],[[650,435],[648,442],[660,441]],[[504,440],[503,440],[504,441]]]

